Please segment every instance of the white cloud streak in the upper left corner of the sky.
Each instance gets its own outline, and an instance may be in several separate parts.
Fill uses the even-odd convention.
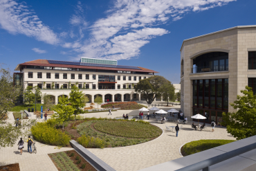
[[[12,34],[23,34],[28,37],[57,44],[57,35],[48,26],[39,21],[33,10],[28,10],[25,3],[17,3],[13,0],[0,0],[0,25],[1,28]]]

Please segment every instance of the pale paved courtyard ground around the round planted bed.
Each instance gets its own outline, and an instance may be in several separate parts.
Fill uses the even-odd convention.
[[[179,109],[180,106],[158,108],[167,111],[172,108]],[[152,112],[153,111],[150,111],[150,114],[152,114]],[[131,118],[131,116],[138,116],[139,111],[118,110],[111,111],[111,113],[112,115],[108,115],[109,112],[105,111],[100,113],[81,114],[81,116],[88,118],[118,118],[122,117],[122,114],[128,114],[129,118]],[[147,111],[144,112],[144,115],[147,115]],[[32,117],[34,118],[35,115],[32,114]],[[51,118],[51,116],[48,116],[48,118]],[[8,122],[14,123],[14,121],[15,120],[12,116],[12,112],[9,112]],[[39,121],[43,121],[43,119],[40,118]],[[180,129],[179,136],[176,137],[176,132],[167,132],[165,129],[165,125],[175,126],[176,123],[168,121],[167,123],[161,124],[157,123],[156,119],[153,118],[149,118],[149,120],[146,119],[146,121],[149,121],[150,123],[152,123],[152,125],[161,127],[161,129],[163,129],[163,134],[152,141],[149,141],[147,143],[141,143],[138,145],[104,149],[87,149],[115,170],[135,171],[141,170],[143,168],[148,168],[152,165],[164,163],[166,161],[172,161],[174,159],[181,158],[182,156],[179,152],[180,147],[190,141],[197,141],[201,139],[235,140],[233,136],[228,134],[228,132],[226,131],[226,127],[218,126],[215,127],[214,132],[211,132],[212,128],[209,124],[206,124],[208,127],[207,130],[195,131],[191,128],[192,122],[189,121],[188,125],[179,124],[179,126],[183,126],[183,129]],[[197,125],[197,122],[194,123]],[[26,139],[24,139],[24,142],[25,141]],[[48,157],[48,154],[66,150],[73,150],[73,148],[70,147],[61,147],[60,149],[58,149],[54,145],[45,145],[36,141],[37,154],[29,154],[27,152],[27,143],[25,143],[24,152],[21,155],[19,154],[17,143],[14,145],[14,147],[2,147],[0,149],[0,165],[19,163],[21,171],[57,170],[51,159]]]

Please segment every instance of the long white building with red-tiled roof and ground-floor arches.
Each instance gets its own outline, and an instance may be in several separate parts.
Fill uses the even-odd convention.
[[[158,73],[140,66],[117,65],[113,60],[89,58],[82,58],[80,62],[33,60],[18,64],[15,71],[20,71],[14,74],[19,78],[15,84],[22,84],[24,90],[38,86],[43,94],[51,95],[56,104],[59,96],[69,96],[73,85],[89,96],[90,102],[94,102],[96,96],[109,102],[144,100],[134,92],[134,85]]]

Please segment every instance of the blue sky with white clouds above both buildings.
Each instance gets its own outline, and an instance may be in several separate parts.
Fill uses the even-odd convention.
[[[0,63],[80,57],[158,71],[180,82],[183,39],[256,25],[254,0],[0,0]]]

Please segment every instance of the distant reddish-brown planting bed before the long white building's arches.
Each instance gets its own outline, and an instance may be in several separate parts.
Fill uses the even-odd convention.
[[[120,108],[121,110],[136,110],[143,107],[147,108],[145,105],[140,105],[137,102],[110,102],[101,105],[102,108]]]

